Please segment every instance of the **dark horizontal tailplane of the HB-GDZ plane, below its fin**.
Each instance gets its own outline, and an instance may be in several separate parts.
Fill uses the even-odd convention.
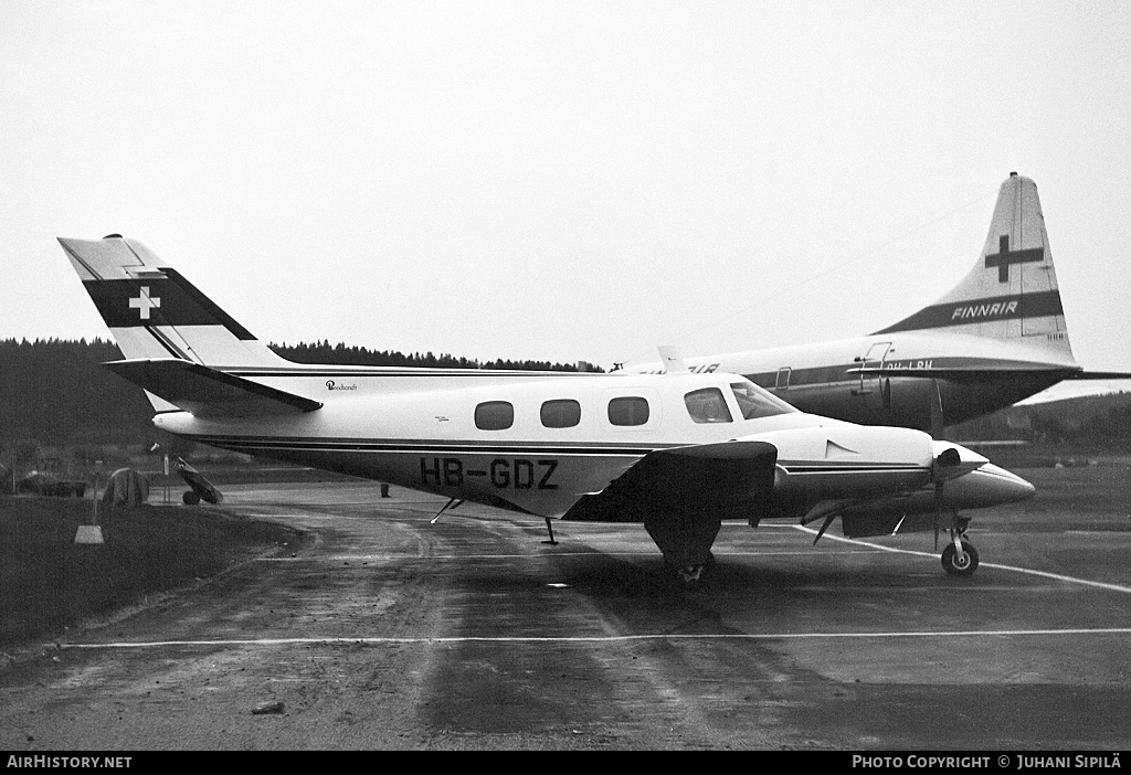
[[[179,358],[112,360],[102,365],[197,417],[299,415],[322,406]]]

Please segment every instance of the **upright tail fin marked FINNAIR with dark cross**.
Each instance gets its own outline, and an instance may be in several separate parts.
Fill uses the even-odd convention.
[[[977,262],[931,306],[875,333],[942,329],[1039,347],[1074,364],[1037,185],[1016,172],[1001,184]]]

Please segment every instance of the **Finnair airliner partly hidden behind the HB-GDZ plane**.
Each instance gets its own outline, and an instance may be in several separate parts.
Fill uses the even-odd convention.
[[[688,364],[742,374],[803,411],[935,438],[1063,380],[1131,378],[1076,363],[1037,186],[1017,173],[1001,185],[974,268],[934,304],[865,337]]]

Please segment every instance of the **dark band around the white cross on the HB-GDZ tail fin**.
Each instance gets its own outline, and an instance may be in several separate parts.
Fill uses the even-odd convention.
[[[222,325],[238,339],[253,340],[254,337],[226,312],[221,310],[184,279],[175,269],[162,269],[165,278],[130,280],[85,280],[83,285],[90,294],[106,325],[112,329],[153,325]],[[146,305],[147,316],[130,299],[138,299],[141,288],[148,288],[149,299],[159,299],[161,305]]]

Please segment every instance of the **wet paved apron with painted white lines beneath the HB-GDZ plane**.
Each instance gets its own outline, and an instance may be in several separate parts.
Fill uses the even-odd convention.
[[[1131,532],[1110,510],[976,520],[967,580],[930,534],[814,548],[727,524],[688,592],[640,526],[556,523],[551,546],[539,520],[433,525],[443,499],[377,485],[225,496],[308,540],[10,660],[0,749],[1131,743]]]

